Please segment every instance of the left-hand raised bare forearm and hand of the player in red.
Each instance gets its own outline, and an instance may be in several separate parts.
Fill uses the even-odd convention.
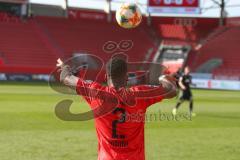
[[[60,58],[56,66],[61,67],[60,81],[69,87],[76,87],[79,78],[72,74],[70,66],[65,65]]]

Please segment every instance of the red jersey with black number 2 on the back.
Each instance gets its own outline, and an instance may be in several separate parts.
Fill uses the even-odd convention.
[[[161,87],[120,88],[79,80],[83,95],[95,116],[98,160],[144,160],[144,120],[147,107],[162,100]],[[104,95],[103,95],[104,94]],[[107,110],[107,111],[105,111]]]

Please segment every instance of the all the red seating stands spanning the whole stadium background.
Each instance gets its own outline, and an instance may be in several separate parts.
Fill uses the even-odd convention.
[[[229,24],[219,28],[217,19],[153,17],[153,27],[142,24],[129,31],[114,21],[107,22],[105,14],[92,11],[70,10],[69,18],[37,16],[27,20],[0,12],[0,71],[49,73],[57,57],[66,59],[74,53],[90,53],[106,61],[114,53],[125,52],[129,61],[151,61],[158,45],[164,44],[190,46],[187,64],[194,71],[207,60],[222,59],[213,70],[215,78],[236,79],[240,77],[236,53],[240,30],[234,21]],[[132,49],[103,51],[107,41],[121,40],[132,40]]]

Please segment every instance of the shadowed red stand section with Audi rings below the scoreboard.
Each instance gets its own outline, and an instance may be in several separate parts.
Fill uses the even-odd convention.
[[[162,39],[162,45],[190,47],[188,57],[184,64],[194,66],[194,61],[198,58],[195,50],[199,43],[202,43],[218,27],[217,19],[209,18],[153,18],[153,26]],[[172,70],[178,67],[171,65]]]

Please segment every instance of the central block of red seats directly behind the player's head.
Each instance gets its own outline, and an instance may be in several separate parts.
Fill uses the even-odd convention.
[[[122,40],[132,40],[133,48],[126,52],[130,57],[129,60],[143,61],[148,49],[154,47],[152,40],[143,31],[143,28],[132,30],[130,34],[129,30],[102,21],[50,17],[36,17],[36,20],[45,26],[45,33],[55,40],[64,53],[64,57],[71,57],[73,53],[83,52],[98,55],[106,61],[112,56],[103,51],[103,45],[107,41],[119,43]]]

